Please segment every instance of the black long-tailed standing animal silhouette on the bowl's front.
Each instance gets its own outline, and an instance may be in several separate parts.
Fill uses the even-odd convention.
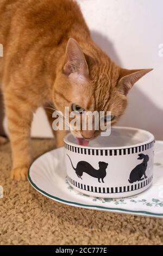
[[[68,156],[68,157],[69,157],[69,159],[71,161],[70,156]],[[102,182],[104,183],[104,178],[106,176],[106,168],[108,167],[108,163],[98,162],[98,164],[99,164],[99,169],[98,170],[93,168],[91,166],[91,164],[86,162],[86,161],[78,162],[77,163],[77,167],[74,168],[73,163],[71,161],[72,168],[76,171],[76,174],[77,174],[78,178],[82,179],[83,173],[87,173],[90,176],[92,176],[94,178],[97,178],[98,182],[101,182],[100,181],[100,179],[101,179]]]

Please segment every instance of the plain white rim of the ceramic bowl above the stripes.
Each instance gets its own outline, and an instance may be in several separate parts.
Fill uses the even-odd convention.
[[[114,150],[114,149],[128,149],[128,148],[136,148],[136,147],[140,147],[142,145],[146,145],[150,142],[153,142],[155,140],[154,135],[146,130],[143,129],[139,129],[139,128],[134,128],[134,127],[127,127],[127,126],[114,126],[114,129],[118,129],[118,130],[133,130],[133,131],[141,131],[144,134],[149,136],[149,139],[147,141],[141,142],[141,143],[137,143],[137,144],[133,144],[133,145],[127,145],[127,146],[118,146],[118,147],[91,147],[91,146],[82,146],[82,145],[78,145],[75,143],[72,143],[70,141],[68,141],[68,137],[73,136],[71,132],[69,132],[65,138],[64,138],[64,142],[68,145],[71,145],[72,147],[76,147],[76,148],[83,148],[83,149],[101,149],[101,150]]]

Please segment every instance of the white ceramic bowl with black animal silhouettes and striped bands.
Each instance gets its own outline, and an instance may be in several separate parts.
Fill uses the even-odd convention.
[[[80,146],[71,133],[65,137],[69,184],[101,198],[129,197],[152,185],[154,136],[144,130],[114,127],[109,137]]]

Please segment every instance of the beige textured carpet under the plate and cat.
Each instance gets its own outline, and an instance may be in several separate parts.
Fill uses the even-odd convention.
[[[36,157],[53,148],[33,140]],[[0,147],[1,245],[162,245],[163,220],[78,209],[47,199],[26,182],[9,179],[9,143]]]

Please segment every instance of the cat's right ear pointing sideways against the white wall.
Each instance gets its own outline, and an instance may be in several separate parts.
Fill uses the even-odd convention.
[[[120,92],[124,95],[127,95],[129,89],[133,87],[134,83],[136,83],[141,77],[145,76],[148,72],[152,70],[153,69],[121,69],[120,78],[118,81],[118,90],[120,90]]]

